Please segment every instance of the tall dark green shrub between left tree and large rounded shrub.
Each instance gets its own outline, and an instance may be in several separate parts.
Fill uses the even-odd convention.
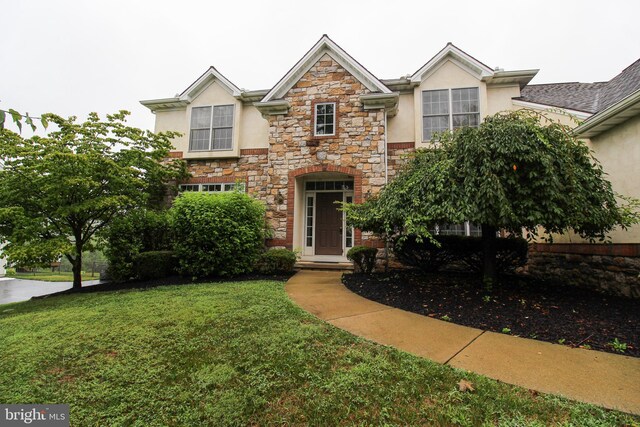
[[[167,211],[137,209],[115,219],[103,233],[106,276],[120,282],[135,277],[134,258],[142,252],[171,249]]]

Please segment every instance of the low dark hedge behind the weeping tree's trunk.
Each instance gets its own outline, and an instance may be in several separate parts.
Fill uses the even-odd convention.
[[[440,243],[437,247],[431,240],[416,236],[395,239],[393,252],[405,265],[432,273],[454,263],[463,264],[473,272],[482,272],[482,238],[466,236],[434,236]],[[496,271],[507,273],[527,262],[528,244],[522,238],[496,239]]]

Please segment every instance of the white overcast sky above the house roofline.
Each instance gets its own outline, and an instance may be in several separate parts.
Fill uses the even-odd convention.
[[[609,80],[640,57],[640,1],[0,0],[0,109],[85,117],[172,97],[210,65],[271,88],[328,34],[378,78],[444,45],[532,83]]]

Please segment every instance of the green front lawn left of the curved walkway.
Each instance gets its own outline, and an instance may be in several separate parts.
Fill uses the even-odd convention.
[[[356,338],[271,281],[0,306],[0,366],[0,402],[68,403],[74,426],[638,423]]]

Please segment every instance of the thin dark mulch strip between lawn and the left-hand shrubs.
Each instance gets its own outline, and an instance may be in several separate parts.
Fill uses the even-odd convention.
[[[129,289],[151,289],[156,288],[158,286],[171,286],[171,285],[189,285],[194,283],[223,283],[223,282],[244,282],[248,280],[276,280],[276,281],[287,281],[291,276],[293,276],[295,272],[291,273],[283,273],[276,275],[264,275],[264,274],[243,274],[240,276],[234,277],[208,277],[208,278],[198,278],[192,279],[182,276],[169,276],[164,277],[162,279],[154,279],[154,280],[130,280],[127,282],[105,282],[100,283],[93,286],[82,287],[80,289],[67,289],[65,291],[56,292],[53,294],[42,295],[38,297],[33,297],[33,299],[42,299],[49,298],[57,295],[69,295],[69,294],[78,294],[78,293],[94,293],[94,292],[112,292],[112,291],[122,291]]]

